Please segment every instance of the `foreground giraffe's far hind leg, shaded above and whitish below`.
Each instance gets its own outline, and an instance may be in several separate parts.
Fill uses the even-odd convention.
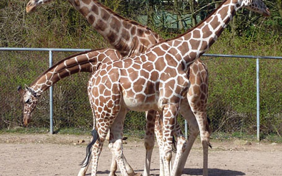
[[[134,175],[133,169],[127,163],[124,155],[123,155],[123,147],[122,147],[122,138],[123,138],[123,121],[126,115],[126,109],[121,108],[119,114],[112,124],[110,130],[110,140],[109,140],[109,148],[117,162],[117,165],[120,168],[122,175]],[[127,165],[125,164],[127,163]]]

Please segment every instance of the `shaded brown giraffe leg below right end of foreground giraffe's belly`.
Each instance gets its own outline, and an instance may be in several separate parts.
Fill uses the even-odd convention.
[[[154,127],[155,127],[155,116],[156,111],[148,111],[146,112],[146,132],[144,138],[144,145],[146,148],[146,159],[145,159],[145,166],[144,166],[144,176],[150,175],[150,166],[151,166],[151,157],[153,148],[155,145],[155,137],[154,137]]]

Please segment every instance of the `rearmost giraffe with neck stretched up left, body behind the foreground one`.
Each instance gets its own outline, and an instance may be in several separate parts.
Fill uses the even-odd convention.
[[[33,11],[36,7],[40,5],[44,5],[51,2],[39,0],[34,1],[31,0],[27,4],[26,10],[27,12]],[[127,20],[115,12],[111,11],[109,8],[104,7],[98,1],[82,1],[82,0],[69,0],[69,2],[75,7],[88,21],[89,23],[121,54],[124,56],[133,56],[139,53],[142,53],[147,48],[153,46],[157,42],[162,41],[163,39],[158,34],[154,33],[151,29],[140,25],[134,21]],[[86,10],[88,9],[88,10]],[[95,19],[95,20],[93,20]],[[115,24],[118,25],[115,25]],[[111,37],[111,38],[110,38]],[[189,80],[192,83],[189,88],[189,95],[191,96],[191,103],[194,106],[198,106],[198,114],[205,115],[206,111],[206,103],[207,103],[207,95],[208,95],[208,77],[207,77],[207,69],[205,65],[198,59],[193,64],[191,64]],[[193,89],[194,87],[198,88]],[[184,106],[183,106],[184,107]],[[188,107],[188,108],[187,108]],[[189,104],[187,102],[185,109],[191,111],[189,108]],[[201,108],[203,107],[203,108]],[[152,117],[153,114],[156,116],[157,113],[152,111],[151,113],[147,113],[147,123],[146,123],[146,135],[144,138],[144,145],[146,148],[146,160],[144,166],[144,176],[149,175],[150,171],[150,161],[152,155],[152,149],[154,146],[154,120],[156,117]],[[184,117],[189,126],[191,120],[189,118],[194,118],[193,113],[190,114],[191,117]],[[158,117],[158,116],[157,116]],[[194,123],[193,125],[196,125]],[[194,129],[194,128],[193,128]],[[195,141],[196,135],[199,133],[199,130],[190,130],[191,137],[189,137],[189,143],[192,144]],[[161,133],[159,133],[161,134]],[[195,137],[194,137],[195,136]],[[161,136],[157,136],[157,138],[161,138]],[[191,138],[191,139],[190,139]],[[190,142],[191,141],[191,142]],[[188,146],[191,146],[188,145]],[[190,149],[189,149],[190,150]],[[187,155],[188,156],[188,155]],[[114,160],[113,160],[114,161]],[[128,166],[131,168],[130,166]],[[112,168],[116,168],[114,164],[111,165],[111,174],[114,175],[115,170]],[[87,167],[82,167],[78,175],[84,175]],[[132,169],[131,169],[132,170]]]

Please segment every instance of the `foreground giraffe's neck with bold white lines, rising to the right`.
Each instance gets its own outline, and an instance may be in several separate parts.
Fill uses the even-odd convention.
[[[176,48],[177,59],[184,62],[187,68],[217,40],[235,15],[238,7],[240,7],[239,5],[236,0],[226,0],[195,28],[180,37],[167,41],[165,44],[167,47]]]

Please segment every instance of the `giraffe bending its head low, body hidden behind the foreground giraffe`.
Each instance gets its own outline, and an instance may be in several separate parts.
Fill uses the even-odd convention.
[[[122,56],[114,49],[97,49],[82,52],[60,60],[58,63],[54,64],[51,68],[47,69],[44,73],[37,77],[37,79],[35,79],[30,86],[25,85],[24,89],[19,86],[17,91],[20,93],[20,101],[23,104],[24,125],[28,125],[30,123],[32,112],[37,105],[39,97],[50,86],[55,85],[59,80],[75,73],[88,72],[93,74],[100,64],[119,59],[122,59]],[[89,82],[88,85],[90,84],[91,83]],[[91,99],[91,87],[88,87],[88,96],[94,118],[94,102]],[[115,123],[120,124],[121,122],[116,119]],[[114,130],[114,128],[111,130]],[[93,136],[95,137],[95,134],[93,134]],[[114,137],[112,137],[112,140],[113,139]],[[126,159],[124,159],[124,161],[125,163],[127,162]]]

